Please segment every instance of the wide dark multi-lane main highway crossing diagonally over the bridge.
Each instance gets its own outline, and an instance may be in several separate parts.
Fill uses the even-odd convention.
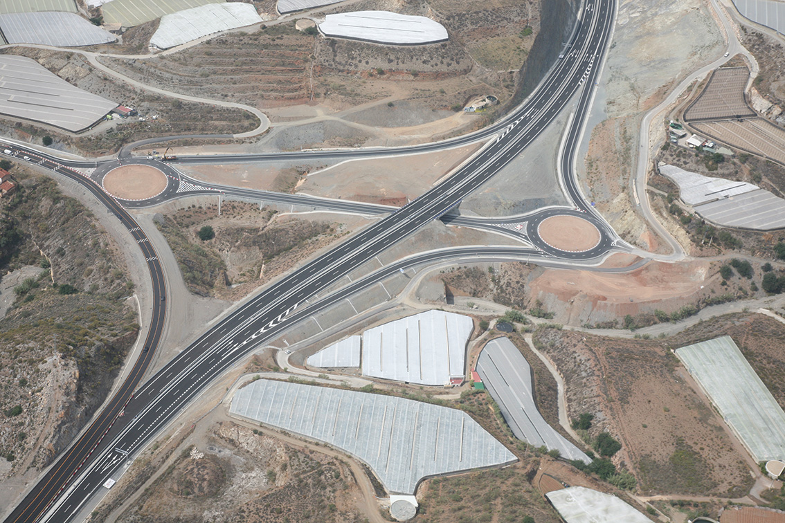
[[[462,198],[466,198],[482,183],[489,180],[499,169],[520,154],[520,151],[532,140],[535,140],[568,104],[571,96],[586,83],[586,78],[590,76],[593,67],[599,63],[604,50],[607,49],[614,13],[615,3],[612,0],[587,0],[586,10],[582,13],[582,23],[573,40],[571,52],[560,60],[550,75],[530,96],[528,102],[508,118],[495,143],[420,198],[396,210],[373,226],[367,227],[323,256],[319,256],[318,259],[306,263],[239,307],[152,376],[133,394],[127,405],[113,398],[112,405],[126,405],[125,416],[118,418],[117,409],[102,412],[96,422],[102,423],[97,427],[100,430],[93,430],[93,427],[90,427],[82,437],[90,438],[89,442],[79,441],[65,452],[49,474],[35,486],[5,521],[9,523],[32,522],[39,519],[57,521],[57,523],[70,521],[79,512],[86,499],[89,499],[89,496],[96,492],[111,474],[122,467],[127,456],[141,449],[190,401],[197,398],[216,376],[225,372],[255,347],[279,336],[284,329],[293,325],[294,321],[308,318],[313,314],[314,310],[305,309],[309,298],[329,288],[345,274],[349,274],[390,245],[417,231],[425,223],[444,216],[455,208]],[[41,155],[41,158],[42,166],[49,166],[46,162],[53,162],[45,155]],[[60,160],[57,162],[62,163]],[[64,171],[61,168],[53,170],[57,170],[58,173]],[[73,172],[69,170],[68,173]],[[117,202],[109,198],[95,183],[84,180],[81,175],[73,176],[76,176],[75,179],[86,187],[94,187],[93,194],[96,194],[108,208],[115,209]],[[122,211],[122,208],[119,209]],[[125,211],[118,212],[118,215],[124,223],[128,224],[129,230],[133,233],[134,227],[131,227],[133,220],[130,216],[127,216]],[[141,240],[142,238],[139,241]],[[145,243],[147,242],[141,241],[140,245]],[[515,252],[520,257],[521,249],[515,249]],[[531,254],[536,256],[539,251],[531,249]],[[429,255],[431,258],[427,256],[425,255],[423,260],[438,260],[438,256],[441,255],[432,253]],[[155,253],[150,252],[150,256],[146,257],[148,257],[148,266],[151,267],[151,274],[156,278],[160,274],[160,267]],[[157,268],[153,271],[152,267]],[[160,297],[163,296],[162,285],[158,292],[154,298],[155,304],[162,305],[159,303]],[[342,289],[341,292],[330,296],[330,300],[341,299],[340,296],[344,292],[348,291]],[[319,307],[327,306],[323,303],[327,302],[319,302]],[[161,309],[162,307],[159,307],[158,314],[154,312],[154,321],[155,318],[159,318],[162,323]],[[153,330],[151,329],[151,332]],[[155,343],[152,346],[154,347]],[[148,358],[150,355],[148,354]],[[141,359],[145,360],[145,358]],[[97,445],[95,442],[98,442]],[[89,459],[75,459],[73,456],[89,456]],[[75,481],[71,481],[74,476],[76,476]],[[62,495],[60,495],[61,491],[64,491]]]

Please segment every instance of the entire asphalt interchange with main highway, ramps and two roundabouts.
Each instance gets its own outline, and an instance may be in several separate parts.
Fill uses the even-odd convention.
[[[436,151],[478,140],[490,140],[486,147],[446,180],[400,209],[202,183],[185,179],[176,169],[177,162],[163,164],[147,158],[131,157],[128,154],[121,155],[119,160],[113,162],[67,160],[42,153],[21,143],[3,140],[4,147],[9,147],[16,159],[29,158],[28,162],[36,163],[59,176],[75,180],[114,213],[144,252],[152,278],[154,302],[152,324],[144,340],[144,347],[149,350],[141,352],[140,358],[134,362],[133,370],[92,425],[83,431],[79,439],[49,467],[38,484],[31,488],[23,502],[5,521],[9,523],[71,521],[104,481],[126,463],[128,456],[133,456],[148,441],[151,441],[163,427],[171,423],[191,401],[197,398],[205,387],[217,376],[221,376],[222,372],[257,347],[280,336],[296,322],[330,307],[345,296],[374,285],[375,282],[389,277],[396,271],[444,260],[531,260],[548,266],[565,266],[568,263],[596,263],[596,260],[613,251],[629,252],[629,245],[621,242],[612,228],[594,211],[590,203],[586,202],[573,172],[575,155],[586,116],[590,111],[593,88],[597,83],[604,53],[612,36],[615,9],[616,5],[612,0],[586,2],[564,57],[557,61],[535,91],[501,122],[472,135],[440,143],[396,149],[222,154],[177,160],[182,163],[227,163],[264,162],[281,158],[298,160],[368,158]],[[579,99],[575,112],[571,115],[559,157],[561,182],[572,205],[539,209],[523,216],[498,219],[456,215],[453,211],[463,198],[476,191],[483,183],[490,180],[491,176],[524,151],[540,136],[553,118],[568,106],[575,93],[579,93]],[[100,176],[120,163],[155,165],[170,175],[173,183],[151,201],[118,200],[103,190],[100,186]],[[93,177],[82,175],[75,170],[85,168],[96,169]],[[183,181],[192,189],[178,192],[178,183]],[[154,376],[143,382],[144,372],[148,369],[161,340],[166,307],[171,307],[173,304],[166,302],[166,285],[158,257],[144,231],[126,209],[157,205],[172,198],[194,194],[225,194],[227,197],[255,201],[264,200],[271,203],[379,215],[381,219],[280,278],[251,300],[247,300],[166,363]],[[600,242],[593,249],[585,252],[565,252],[547,245],[537,234],[537,223],[550,216],[559,215],[582,216],[590,220],[600,231]],[[423,252],[382,267],[365,278],[352,281],[350,285],[338,291],[321,296],[325,289],[333,286],[345,274],[436,219],[452,225],[502,232],[519,238],[527,246],[476,246]],[[525,223],[525,227],[521,227],[520,231],[500,227],[510,222]],[[317,294],[320,297],[314,300]],[[121,412],[124,413],[123,416],[119,416]]]

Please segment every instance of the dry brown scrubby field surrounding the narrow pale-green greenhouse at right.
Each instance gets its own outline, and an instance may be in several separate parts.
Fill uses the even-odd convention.
[[[641,492],[736,498],[747,494],[755,465],[681,367],[671,349],[728,334],[780,403],[785,325],[761,314],[703,321],[661,340],[621,340],[543,330],[535,343],[568,383],[570,415],[590,413],[593,441],[607,430],[623,446],[615,462]],[[577,358],[576,358],[577,356]]]

